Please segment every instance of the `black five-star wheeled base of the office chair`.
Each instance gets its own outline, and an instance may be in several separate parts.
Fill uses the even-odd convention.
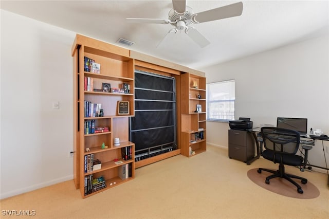
[[[288,174],[284,172],[284,166],[282,163],[280,163],[279,165],[279,170],[275,171],[275,170],[268,170],[268,169],[264,169],[264,168],[259,168],[257,170],[258,173],[262,173],[262,171],[266,171],[266,172],[270,172],[273,173],[273,175],[267,176],[265,179],[265,183],[269,184],[269,180],[272,178],[276,178],[276,177],[280,177],[280,178],[285,178],[286,180],[288,180],[289,182],[291,182],[292,184],[294,184],[297,187],[297,192],[303,194],[303,190],[302,187],[300,185],[297,184],[297,182],[295,182],[293,179],[291,178],[296,178],[296,179],[300,179],[302,184],[306,184],[307,183],[307,179],[300,177],[300,176],[296,176],[293,174]]]

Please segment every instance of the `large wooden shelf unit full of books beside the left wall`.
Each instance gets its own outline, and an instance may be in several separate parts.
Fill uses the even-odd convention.
[[[74,181],[80,189],[82,197],[97,194],[105,189],[118,186],[135,177],[135,144],[129,141],[129,117],[134,116],[134,59],[129,57],[129,50],[95,39],[76,35],[72,46],[74,60]],[[100,64],[100,74],[87,72],[84,69],[84,57]],[[121,88],[123,83],[130,85],[130,94],[105,93],[84,90],[85,77],[93,78],[94,88],[102,89],[102,83]],[[103,117],[85,117],[85,101],[101,103]],[[118,101],[129,101],[130,114],[118,115]],[[95,126],[108,126],[109,132],[86,134],[85,121],[95,121]],[[114,139],[120,139],[120,145],[114,145]],[[107,148],[101,149],[104,143]],[[132,158],[122,160],[121,148],[131,147]],[[86,149],[89,151],[86,151]],[[85,173],[85,155],[93,154],[99,159],[102,167],[99,170]],[[116,165],[114,159],[123,161]],[[119,167],[131,163],[131,177],[122,180]],[[106,188],[85,194],[85,177],[93,174],[93,178],[103,176]],[[115,183],[114,183],[115,182]],[[112,184],[112,185],[110,185]]]

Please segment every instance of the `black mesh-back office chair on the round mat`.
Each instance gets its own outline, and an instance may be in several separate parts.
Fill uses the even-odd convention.
[[[279,163],[279,169],[277,171],[273,171],[259,168],[257,172],[262,173],[262,171],[267,171],[273,173],[273,175],[266,177],[266,184],[269,184],[269,180],[275,177],[285,178],[297,187],[298,193],[302,194],[302,187],[291,178],[301,179],[302,184],[306,184],[307,179],[284,172],[284,165],[303,165],[303,157],[296,155],[300,141],[299,132],[277,127],[262,127],[261,134],[265,148],[262,156],[267,160],[273,161],[274,163]]]

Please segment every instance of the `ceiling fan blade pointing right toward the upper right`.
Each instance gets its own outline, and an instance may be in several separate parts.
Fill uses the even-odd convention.
[[[214,8],[208,11],[195,13],[195,16],[193,17],[193,22],[202,23],[202,22],[226,19],[228,17],[240,16],[242,14],[242,9],[243,9],[242,2],[238,2],[220,8]]]

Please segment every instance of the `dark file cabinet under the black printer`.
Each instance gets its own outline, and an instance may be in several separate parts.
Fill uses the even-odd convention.
[[[248,131],[228,131],[228,156],[236,160],[247,162],[254,157],[254,142]]]

